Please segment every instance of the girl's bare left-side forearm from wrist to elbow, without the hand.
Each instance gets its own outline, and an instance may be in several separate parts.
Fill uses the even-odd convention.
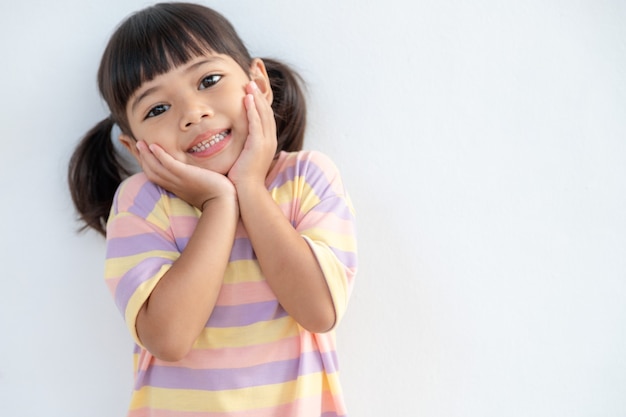
[[[234,196],[206,203],[187,246],[139,311],[137,333],[153,355],[181,359],[206,325],[222,285],[238,218]]]

